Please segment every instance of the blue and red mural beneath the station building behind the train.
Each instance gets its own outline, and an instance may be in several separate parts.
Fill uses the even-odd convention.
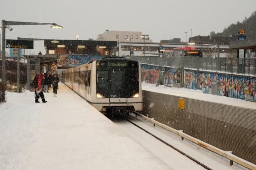
[[[103,57],[104,56],[98,55],[69,55],[69,57],[61,63],[61,65],[63,67],[76,67]]]

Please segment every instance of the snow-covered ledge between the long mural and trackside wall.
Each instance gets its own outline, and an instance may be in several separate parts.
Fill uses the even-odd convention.
[[[203,100],[208,102],[222,103],[242,108],[256,109],[256,102],[249,102],[238,98],[228,98],[226,96],[206,94],[203,93],[202,90],[192,90],[188,88],[169,88],[161,85],[156,87],[155,84],[149,84],[145,82],[142,82],[142,89],[156,93],[171,94],[174,96],[180,96],[184,98],[194,98],[197,100]]]

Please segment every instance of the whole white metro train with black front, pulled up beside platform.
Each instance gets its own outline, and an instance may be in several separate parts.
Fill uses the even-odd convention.
[[[140,64],[123,57],[102,58],[64,70],[62,82],[103,114],[142,110]]]

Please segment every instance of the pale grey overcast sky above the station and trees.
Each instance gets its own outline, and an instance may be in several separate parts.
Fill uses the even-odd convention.
[[[4,8],[3,8],[4,7]],[[142,31],[154,42],[191,36],[208,36],[231,23],[243,21],[256,10],[256,0],[2,0],[0,20],[49,22],[63,26],[11,26],[6,39],[96,39],[110,31]],[[0,33],[1,34],[1,33]],[[45,53],[43,41],[35,50]]]

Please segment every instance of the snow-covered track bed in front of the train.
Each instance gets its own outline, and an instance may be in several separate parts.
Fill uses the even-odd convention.
[[[131,114],[134,117],[134,114]],[[177,149],[186,153],[192,158],[200,161],[204,165],[208,166],[213,170],[247,170],[247,168],[234,163],[233,166],[229,165],[229,160],[222,158],[221,156],[204,149],[197,144],[194,144],[187,139],[181,140],[181,137],[173,134],[159,126],[153,126],[152,123],[144,120],[143,118],[130,118],[130,120],[138,124],[140,127],[148,130],[150,133],[156,135],[165,142],[173,145]],[[187,157],[181,155],[176,150],[167,146],[166,144],[155,139],[151,135],[145,133],[143,130],[137,128],[128,121],[114,121],[118,127],[123,129],[125,132],[130,134],[134,139],[139,141],[145,147],[147,147],[151,152],[163,160],[166,164],[171,166],[175,170],[203,170],[204,168]]]

